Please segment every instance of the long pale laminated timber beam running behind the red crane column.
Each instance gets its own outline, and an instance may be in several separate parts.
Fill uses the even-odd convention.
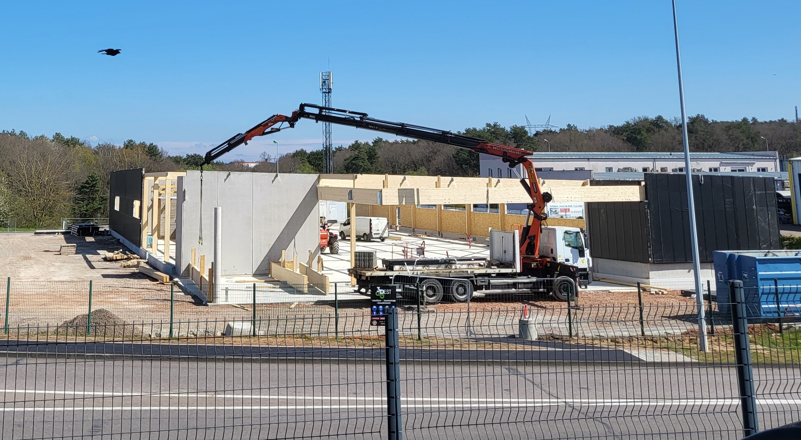
[[[529,203],[531,199],[519,182],[512,188],[342,188],[318,186],[320,200],[354,204],[510,204]],[[352,182],[352,180],[348,180]],[[635,202],[645,200],[642,185],[573,186],[543,188],[556,202]]]

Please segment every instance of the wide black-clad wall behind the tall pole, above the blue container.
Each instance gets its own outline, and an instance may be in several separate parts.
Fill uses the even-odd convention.
[[[692,261],[686,177],[646,173],[654,263]],[[693,176],[698,250],[704,263],[712,251],[781,248],[774,179]]]

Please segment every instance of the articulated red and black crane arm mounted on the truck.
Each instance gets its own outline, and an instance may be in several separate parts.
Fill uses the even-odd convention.
[[[473,138],[460,135],[451,131],[437,130],[435,128],[421,127],[409,123],[395,123],[368,117],[367,113],[359,111],[341,110],[332,107],[322,107],[315,104],[300,104],[298,110],[293,111],[291,116],[272,115],[269,119],[256,125],[244,134],[239,133],[231,139],[219,144],[219,146],[208,151],[204,163],[211,163],[219,156],[231,151],[242,143],[256,136],[269,135],[286,128],[295,127],[300,119],[313,119],[315,122],[336,123],[348,127],[364,128],[366,130],[380,131],[391,135],[397,135],[413,139],[430,140],[438,143],[453,145],[454,147],[466,148],[470,151],[500,157],[509,168],[515,169],[520,164],[525,169],[527,179],[521,177],[520,182],[525,191],[531,196],[529,204],[529,216],[526,217],[525,226],[521,236],[521,268],[524,272],[540,272],[549,265],[549,259],[538,256],[541,235],[541,222],[548,218],[545,213],[545,204],[552,200],[548,192],[541,192],[537,172],[534,164],[529,159],[531,151],[521,148],[508,147],[497,143],[490,143],[484,139]],[[282,127],[286,123],[287,127]],[[278,127],[275,127],[275,126]],[[517,174],[517,171],[515,171]],[[551,262],[553,263],[553,261]],[[549,272],[565,272],[569,264],[562,264],[565,268],[553,268]],[[573,268],[575,270],[575,268]],[[574,271],[573,271],[574,272]],[[568,273],[566,273],[567,275]],[[574,273],[570,274],[575,276]]]

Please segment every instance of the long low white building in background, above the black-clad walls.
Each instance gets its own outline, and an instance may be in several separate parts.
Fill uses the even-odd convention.
[[[533,152],[537,171],[684,172],[684,154],[632,152]],[[517,177],[509,165],[491,155],[480,155],[481,177]],[[779,172],[777,151],[690,153],[694,172]],[[517,172],[524,176],[521,167]]]

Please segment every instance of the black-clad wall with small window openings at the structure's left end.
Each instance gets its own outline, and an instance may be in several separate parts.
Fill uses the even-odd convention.
[[[139,246],[142,243],[142,220],[134,216],[134,200],[139,200],[139,216],[142,208],[142,185],[144,169],[111,172],[109,179],[109,228]],[[119,197],[119,211],[115,211],[115,197]]]

